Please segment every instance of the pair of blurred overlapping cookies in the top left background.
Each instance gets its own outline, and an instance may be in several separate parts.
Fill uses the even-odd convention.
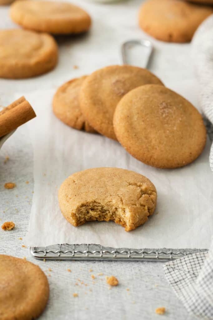
[[[91,25],[87,12],[62,2],[16,1],[10,15],[25,30],[0,30],[2,78],[28,78],[52,70],[58,60],[58,46],[50,34],[79,34]]]

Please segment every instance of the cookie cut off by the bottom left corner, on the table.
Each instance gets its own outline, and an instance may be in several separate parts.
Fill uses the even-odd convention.
[[[0,255],[1,320],[35,319],[43,312],[48,298],[48,280],[39,266]]]

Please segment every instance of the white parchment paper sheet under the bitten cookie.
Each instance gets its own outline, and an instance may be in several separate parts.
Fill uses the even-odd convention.
[[[182,87],[179,92],[183,90]],[[34,149],[29,245],[94,243],[130,248],[209,247],[213,233],[209,140],[202,155],[186,167],[175,170],[152,168],[134,159],[116,141],[63,124],[52,113],[53,94],[53,90],[48,90],[26,95],[37,114],[28,124]],[[155,184],[158,192],[156,211],[143,226],[125,232],[114,222],[87,222],[76,228],[62,216],[57,192],[63,180],[74,172],[104,166],[139,172]]]

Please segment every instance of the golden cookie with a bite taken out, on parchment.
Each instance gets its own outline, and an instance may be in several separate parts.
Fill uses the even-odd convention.
[[[61,185],[62,214],[75,227],[86,221],[113,220],[133,230],[156,207],[156,188],[139,173],[119,168],[94,168],[72,174]]]

